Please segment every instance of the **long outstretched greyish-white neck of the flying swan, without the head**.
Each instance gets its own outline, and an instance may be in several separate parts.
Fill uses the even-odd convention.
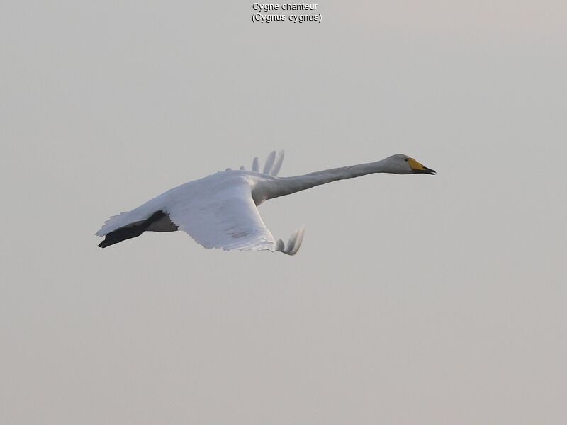
[[[262,203],[266,199],[278,198],[279,196],[290,195],[305,189],[313,188],[331,181],[352,179],[353,177],[366,176],[366,174],[388,172],[385,159],[368,164],[357,164],[342,166],[336,169],[315,171],[314,173],[303,176],[281,177],[262,181],[254,189],[254,199],[257,203]],[[258,202],[259,201],[259,202]]]

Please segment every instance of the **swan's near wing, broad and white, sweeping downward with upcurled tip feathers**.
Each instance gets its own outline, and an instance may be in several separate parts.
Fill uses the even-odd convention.
[[[226,188],[168,208],[169,220],[205,248],[267,249],[295,254],[301,244],[287,249],[266,228],[254,204],[248,185]]]

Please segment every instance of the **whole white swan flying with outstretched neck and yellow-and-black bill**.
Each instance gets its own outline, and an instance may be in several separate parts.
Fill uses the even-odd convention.
[[[283,244],[266,228],[257,205],[265,200],[373,173],[435,174],[407,155],[397,154],[378,162],[316,171],[295,177],[277,177],[283,151],[271,152],[262,172],[258,158],[252,171],[227,169],[190,181],[162,193],[132,211],[109,218],[96,232],[105,239],[99,246],[117,244],[143,232],[183,230],[205,248],[279,251],[296,254],[303,240],[303,227]]]

